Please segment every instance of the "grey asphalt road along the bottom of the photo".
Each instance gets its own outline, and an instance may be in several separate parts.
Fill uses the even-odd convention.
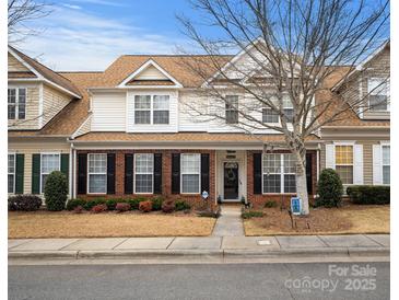
[[[383,300],[389,285],[389,263],[9,266],[9,299]]]

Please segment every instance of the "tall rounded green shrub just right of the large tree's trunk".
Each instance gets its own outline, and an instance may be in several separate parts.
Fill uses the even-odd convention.
[[[318,186],[317,206],[338,207],[341,204],[343,186],[340,176],[332,169],[321,171]]]

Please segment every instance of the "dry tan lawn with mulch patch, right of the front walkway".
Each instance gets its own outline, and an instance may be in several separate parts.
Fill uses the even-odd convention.
[[[307,217],[294,217],[292,228],[286,210],[266,208],[263,217],[244,220],[246,235],[389,233],[388,205],[347,205],[310,209]]]

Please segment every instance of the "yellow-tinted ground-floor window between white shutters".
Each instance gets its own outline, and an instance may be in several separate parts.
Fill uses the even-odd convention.
[[[353,184],[353,146],[336,146],[336,171],[343,184]]]

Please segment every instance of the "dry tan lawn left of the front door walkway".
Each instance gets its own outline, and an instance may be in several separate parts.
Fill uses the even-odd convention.
[[[9,239],[206,236],[214,222],[213,218],[183,214],[9,212]]]

